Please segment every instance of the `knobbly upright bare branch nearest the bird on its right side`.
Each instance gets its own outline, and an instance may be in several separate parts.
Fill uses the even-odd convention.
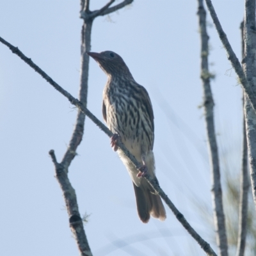
[[[198,0],[198,17],[201,36],[201,79],[204,90],[204,115],[207,129],[209,160],[212,176],[212,205],[214,226],[216,228],[216,240],[221,256],[228,255],[228,242],[225,228],[225,215],[223,211],[222,190],[220,181],[220,163],[218,157],[218,145],[214,127],[214,101],[211,92],[211,74],[208,67],[208,40],[206,30],[206,12],[203,0]]]

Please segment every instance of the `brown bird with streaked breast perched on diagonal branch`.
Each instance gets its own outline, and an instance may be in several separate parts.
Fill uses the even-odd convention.
[[[115,52],[88,52],[108,76],[103,91],[102,113],[114,136],[111,138],[113,150],[117,150],[131,176],[138,215],[147,223],[150,215],[159,220],[166,219],[163,202],[154,189],[143,179],[148,172],[156,179],[154,144],[154,114],[147,90],[136,83],[124,60]],[[120,139],[125,147],[141,163],[140,171],[116,146]]]

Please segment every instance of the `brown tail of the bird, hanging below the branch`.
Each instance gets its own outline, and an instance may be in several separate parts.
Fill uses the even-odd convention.
[[[143,223],[147,223],[151,215],[154,218],[164,221],[166,219],[166,212],[160,196],[150,192],[148,188],[150,185],[147,184],[146,180],[141,182],[141,185],[137,187],[133,184],[140,220]]]

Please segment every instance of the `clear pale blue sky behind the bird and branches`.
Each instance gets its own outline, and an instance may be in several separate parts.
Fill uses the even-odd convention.
[[[90,10],[107,1],[91,0]],[[116,1],[120,3],[120,1]],[[212,1],[241,59],[243,1]],[[19,47],[65,90],[79,90],[79,1],[2,1],[0,36]],[[147,89],[155,116],[157,179],[192,227],[211,243],[213,231],[199,208],[211,209],[211,173],[200,81],[197,1],[135,0],[93,22],[92,51],[115,51]],[[216,134],[232,148],[239,170],[242,103],[225,49],[207,13]],[[103,121],[106,75],[90,60],[88,109]],[[0,44],[0,254],[79,255],[68,226],[49,150],[61,161],[77,109],[24,61]],[[233,152],[234,151],[234,152]],[[237,153],[238,152],[238,153]],[[93,255],[204,255],[167,209],[164,222],[145,225],[136,212],[132,183],[109,138],[86,118],[78,156],[69,168]]]

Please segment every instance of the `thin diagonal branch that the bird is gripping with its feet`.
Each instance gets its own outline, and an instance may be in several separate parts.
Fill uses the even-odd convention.
[[[68,93],[66,90],[61,88],[59,84],[54,82],[51,77],[49,77],[41,68],[39,68],[31,59],[26,57],[17,47],[14,47],[10,43],[6,42],[3,38],[0,37],[0,42],[2,42],[4,45],[8,46],[10,50],[17,54],[22,60],[24,60],[31,68],[33,68],[38,74],[40,74],[48,83],[50,83],[58,92],[60,92],[62,95],[64,95],[71,104],[79,108],[79,110],[83,111],[84,115],[88,116],[102,131],[104,131],[109,138],[113,136],[113,133],[109,131],[108,127],[106,125],[102,124],[99,119],[97,119],[84,105],[82,102],[74,98],[70,93]],[[123,151],[125,156],[129,157],[131,162],[136,166],[136,168],[140,168],[141,164],[136,160],[134,156],[125,148],[124,144],[121,141],[117,142],[118,147],[120,147]],[[53,150],[49,152],[49,154],[52,157],[52,161],[54,164],[56,164],[56,172],[60,171],[60,166],[56,161],[56,157],[54,156]],[[65,166],[63,166],[63,170],[65,170]],[[67,171],[66,171],[67,172]],[[62,175],[67,175],[66,172],[63,172],[61,170]],[[145,179],[148,181],[148,183],[156,190],[156,192],[163,198],[164,202],[170,207],[173,214],[175,214],[177,220],[181,223],[181,225],[186,228],[186,230],[189,232],[189,234],[196,240],[198,244],[200,244],[201,248],[204,250],[205,253],[209,256],[217,256],[216,253],[212,250],[211,246],[202,239],[202,237],[199,236],[199,234],[191,227],[191,225],[188,223],[188,221],[184,218],[184,216],[179,212],[179,210],[173,205],[172,201],[168,198],[168,196],[164,193],[163,189],[159,187],[159,184],[157,184],[155,179],[152,179],[150,175],[145,175]],[[65,179],[64,179],[65,180]],[[66,180],[65,180],[66,181]],[[69,202],[68,202],[69,203]],[[78,212],[79,213],[79,212]]]

